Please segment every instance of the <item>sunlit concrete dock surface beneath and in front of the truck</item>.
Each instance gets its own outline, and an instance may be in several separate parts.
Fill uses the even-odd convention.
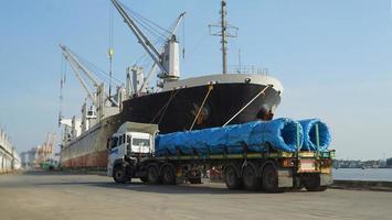
[[[227,190],[223,184],[115,184],[102,175],[0,175],[1,220],[61,219],[392,219],[392,193],[328,189],[284,194]]]

